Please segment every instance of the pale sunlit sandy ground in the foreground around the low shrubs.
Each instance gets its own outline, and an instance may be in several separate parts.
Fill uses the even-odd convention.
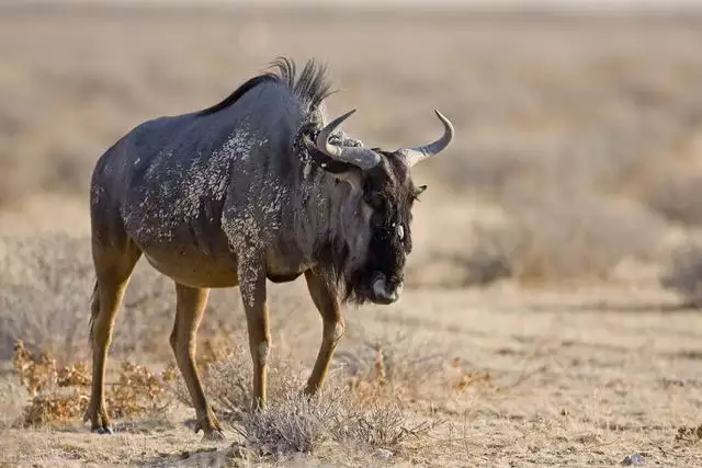
[[[419,413],[426,415],[420,408],[433,406],[431,416],[445,421],[433,434],[441,448],[397,463],[612,466],[638,453],[647,466],[697,466],[702,463],[699,443],[676,435],[679,427],[699,424],[702,317],[676,310],[675,304],[650,289],[525,292],[505,286],[412,292],[397,306],[364,308],[350,319],[352,327],[433,339],[492,377],[478,391],[419,404]],[[137,420],[114,436],[90,434],[78,424],[8,430],[2,460],[11,466],[234,463],[228,448],[237,441],[233,432],[222,444],[202,442],[183,424],[190,410],[178,408]],[[299,460],[326,461],[369,463],[335,459],[333,454]]]

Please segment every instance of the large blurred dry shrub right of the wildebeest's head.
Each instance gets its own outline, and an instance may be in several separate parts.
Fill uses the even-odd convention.
[[[635,202],[577,192],[522,194],[507,201],[505,209],[505,225],[475,230],[474,248],[463,261],[485,271],[472,277],[509,273],[521,281],[605,279],[624,260],[650,260],[665,226]],[[501,275],[490,274],[496,265]]]

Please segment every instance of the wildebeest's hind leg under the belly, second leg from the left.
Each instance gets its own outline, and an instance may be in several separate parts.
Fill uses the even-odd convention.
[[[210,403],[207,403],[195,365],[197,328],[205,311],[210,289],[188,287],[176,283],[176,294],[178,305],[170,341],[176,362],[195,407],[197,418],[195,432],[202,430],[206,440],[223,440],[222,427]]]

